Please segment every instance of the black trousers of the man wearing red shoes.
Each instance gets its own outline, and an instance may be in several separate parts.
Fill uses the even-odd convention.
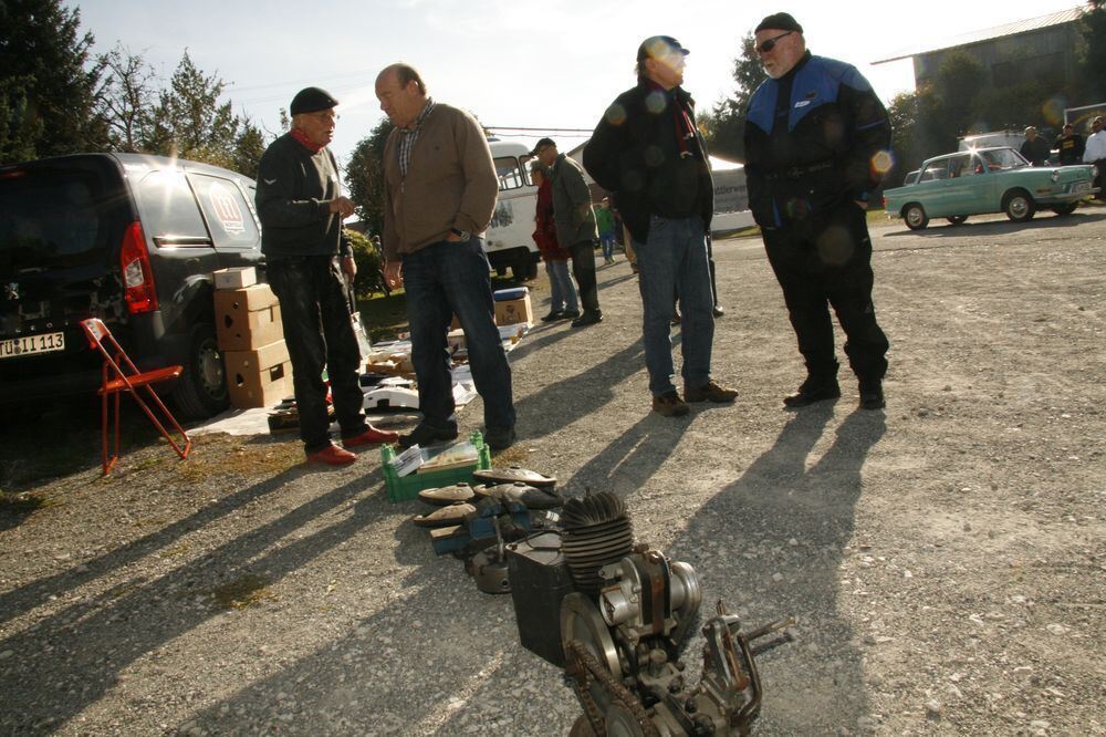
[[[337,259],[330,256],[272,259],[268,273],[269,284],[280,300],[304,450],[314,453],[331,444],[324,367],[342,437],[364,433],[368,424],[363,408],[365,394],[357,381],[361,349],[353,332]]]

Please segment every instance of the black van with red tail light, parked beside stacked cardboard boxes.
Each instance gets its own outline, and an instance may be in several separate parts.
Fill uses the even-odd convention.
[[[80,322],[139,369],[180,364],[186,417],[228,405],[211,272],[260,266],[253,180],[207,164],[80,154],[0,167],[0,404],[100,386]]]

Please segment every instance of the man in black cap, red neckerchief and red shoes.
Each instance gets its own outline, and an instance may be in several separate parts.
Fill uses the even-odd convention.
[[[337,104],[319,87],[296,93],[292,129],[261,156],[255,201],[261,250],[270,286],[280,300],[292,360],[300,437],[307,460],[344,466],[357,458],[345,448],[390,443],[399,436],[369,425],[363,411],[364,393],[357,381],[361,353],[342,278],[345,272],[352,280],[357,272],[353,250],[342,236],[342,218],[353,215],[353,203],[342,196],[337,163],[326,148],[334,137]],[[331,442],[324,367],[345,448]]]

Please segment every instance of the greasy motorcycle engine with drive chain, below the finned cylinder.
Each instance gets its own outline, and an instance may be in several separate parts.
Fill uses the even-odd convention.
[[[701,589],[687,563],[638,546],[602,569],[598,602],[570,594],[561,606],[565,675],[595,735],[748,735],[761,704],[750,643],[787,622],[748,635],[721,602],[702,627],[698,685],[679,653],[698,617]],[[574,734],[586,735],[577,723]]]

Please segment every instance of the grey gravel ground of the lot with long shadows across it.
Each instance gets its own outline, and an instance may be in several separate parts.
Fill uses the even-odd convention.
[[[735,239],[714,341],[735,405],[648,412],[619,260],[601,325],[511,354],[501,459],[618,494],[706,606],[797,619],[760,657],[758,734],[1106,734],[1106,214],[874,241],[886,412],[856,411],[844,374],[838,403],[782,411],[794,338],[759,241]],[[434,556],[378,457],[300,459],[288,436],[202,436],[187,461],[150,444],[107,478],[90,456],[9,486],[39,506],[0,510],[0,733],[565,734],[580,707],[510,598]]]

